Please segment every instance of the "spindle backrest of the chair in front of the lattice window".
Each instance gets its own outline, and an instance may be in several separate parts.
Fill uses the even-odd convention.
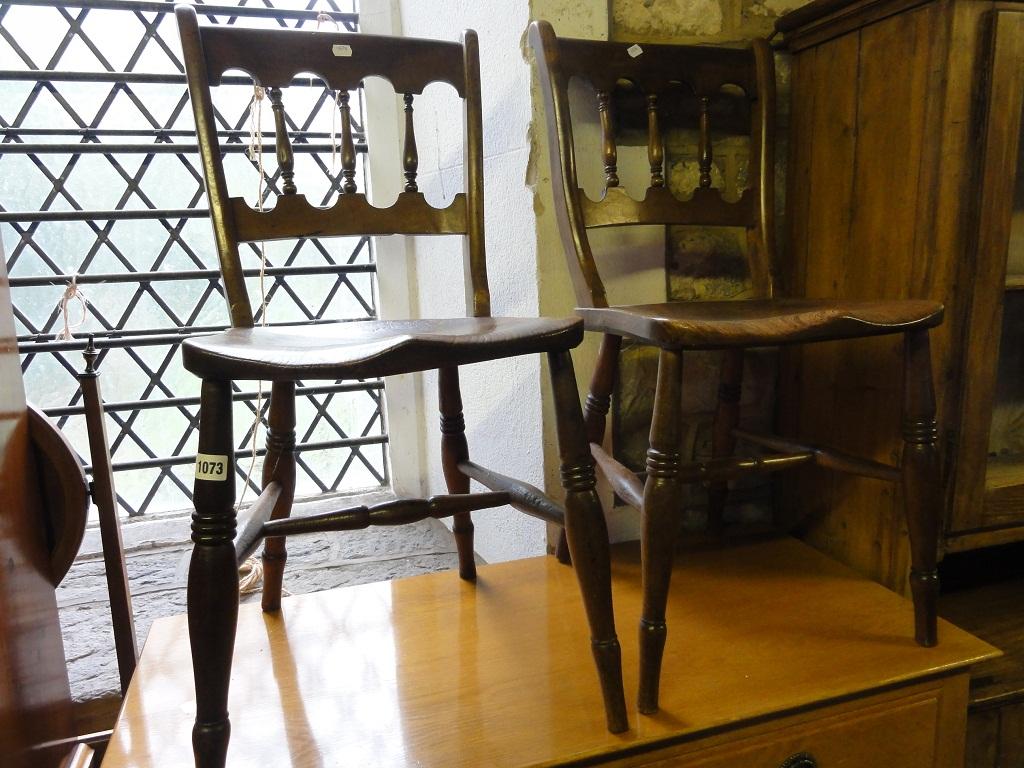
[[[476,33],[462,43],[380,35],[296,30],[200,27],[191,6],[175,8],[184,53],[188,91],[210,202],[231,325],[251,327],[253,312],[243,281],[239,243],[352,234],[465,234],[466,290],[474,315],[490,312],[483,248],[482,117]],[[276,205],[256,211],[242,198],[228,197],[214,123],[211,87],[228,70],[248,73],[265,89],[273,111],[282,194]],[[296,75],[312,73],[337,91],[340,112],[341,193],[330,208],[311,205],[294,179],[294,154],[282,90]],[[370,205],[356,188],[348,91],[371,75],[386,78],[403,94],[406,138],[402,147],[404,191],[390,208]],[[426,202],[417,184],[419,159],[413,127],[415,96],[428,84],[450,84],[463,99],[466,191],[447,208]]]

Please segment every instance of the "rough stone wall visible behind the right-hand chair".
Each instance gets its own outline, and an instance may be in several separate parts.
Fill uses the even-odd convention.
[[[771,34],[775,19],[806,0],[611,0],[610,36],[623,42],[737,44]],[[786,156],[788,67],[776,57],[779,80],[776,173],[777,214],[781,224]],[[694,130],[677,128],[667,136],[667,180],[677,197],[688,197],[697,185]],[[714,141],[713,185],[734,198],[746,185],[749,141],[718,137]],[[778,232],[784,231],[779,225]],[[781,244],[780,244],[781,245]],[[665,247],[666,286],[673,301],[742,299],[751,296],[742,230],[717,227],[669,227]],[[653,297],[651,300],[655,300]],[[622,381],[613,413],[614,447],[629,466],[644,465],[647,430],[657,369],[656,350],[630,346],[623,352]],[[690,460],[711,457],[711,430],[718,390],[719,355],[691,353],[684,362],[683,455]],[[744,428],[771,428],[776,378],[772,351],[746,355],[740,422]],[[742,449],[742,446],[740,446]],[[727,518],[761,519],[768,515],[769,484],[755,479],[734,487]],[[694,488],[686,514],[687,527],[705,522],[706,495]]]

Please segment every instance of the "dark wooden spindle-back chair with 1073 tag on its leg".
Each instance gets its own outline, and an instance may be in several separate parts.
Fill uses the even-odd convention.
[[[594,462],[587,445],[569,349],[583,339],[578,318],[492,317],[483,239],[482,135],[475,33],[462,43],[357,34],[200,28],[190,7],[176,9],[188,88],[203,159],[214,234],[230,310],[231,329],[194,337],[183,345],[184,366],[203,379],[199,459],[193,518],[195,551],[188,573],[188,623],[195,660],[197,764],[224,762],[229,725],[227,684],[238,613],[238,563],[260,540],[265,581],[263,609],[281,604],[290,534],[392,525],[427,517],[455,518],[459,572],[476,575],[472,510],[506,504],[564,523],[604,694],[608,728],[627,728],[618,642],[611,613],[607,530],[594,490]],[[339,55],[337,51],[350,52]],[[257,212],[228,197],[211,102],[211,86],[227,69],[249,73],[266,89],[275,122],[283,194]],[[388,209],[372,207],[356,190],[348,103],[340,100],[343,183],[329,209],[296,189],[293,152],[282,91],[300,72],[311,72],[346,94],[379,75],[404,94],[404,191]],[[458,92],[464,103],[467,188],[443,210],[428,205],[417,186],[412,113],[415,96],[432,81]],[[456,234],[466,239],[466,279],[473,316],[454,319],[367,321],[302,328],[254,327],[239,259],[239,244],[282,238],[352,234]],[[565,509],[537,488],[504,477],[469,459],[459,387],[459,367],[520,354],[547,353],[558,414]],[[401,499],[366,508],[289,519],[295,483],[295,382],[367,379],[439,370],[441,453],[450,495]],[[272,382],[263,490],[245,518],[234,510],[231,381]],[[501,435],[495,435],[500,439]],[[492,489],[469,494],[470,479]],[[238,534],[236,531],[238,530]]]

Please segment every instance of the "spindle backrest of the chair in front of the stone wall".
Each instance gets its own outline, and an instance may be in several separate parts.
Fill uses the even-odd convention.
[[[580,304],[608,305],[587,229],[624,224],[745,227],[754,290],[770,295],[775,76],[767,42],[755,40],[743,49],[632,46],[559,38],[547,22],[530,26],[529,40],[547,102],[558,224]],[[577,178],[569,115],[573,78],[589,83],[597,99],[606,185],[597,202]],[[688,200],[678,200],[666,185],[665,133],[673,121],[698,136],[698,186]],[[616,128],[622,125],[646,129],[650,186],[642,201],[618,186]],[[718,129],[750,136],[748,188],[736,201],[725,200],[712,186],[712,132]]]

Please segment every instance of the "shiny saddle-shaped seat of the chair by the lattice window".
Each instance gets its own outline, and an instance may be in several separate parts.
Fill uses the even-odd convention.
[[[578,317],[359,321],[194,336],[182,358],[205,379],[369,379],[564,351],[582,340]]]

